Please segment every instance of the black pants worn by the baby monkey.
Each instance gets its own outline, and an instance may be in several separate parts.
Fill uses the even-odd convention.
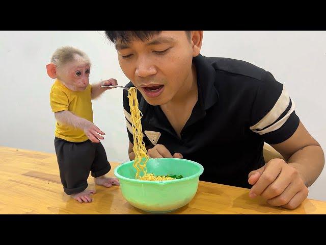
[[[105,175],[111,169],[101,142],[93,143],[87,140],[75,143],[55,137],[55,149],[61,183],[68,195],[82,192],[87,188],[90,171],[96,178]]]

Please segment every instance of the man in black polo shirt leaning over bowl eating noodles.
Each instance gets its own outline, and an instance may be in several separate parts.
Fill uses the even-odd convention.
[[[105,31],[137,86],[148,155],[204,166],[200,180],[251,188],[294,209],[320,175],[324,155],[295,114],[286,88],[248,62],[200,55],[202,31]],[[132,130],[127,91],[123,106]],[[264,163],[263,144],[284,157]]]

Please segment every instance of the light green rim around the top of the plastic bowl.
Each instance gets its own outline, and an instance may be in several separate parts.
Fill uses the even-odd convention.
[[[191,176],[188,176],[188,177],[185,177],[185,178],[181,178],[181,179],[175,179],[175,180],[158,180],[158,181],[152,181],[152,180],[137,180],[137,179],[130,179],[130,178],[127,178],[127,177],[124,177],[120,174],[118,174],[118,169],[122,166],[122,165],[126,165],[126,164],[130,164],[131,162],[133,162],[134,160],[131,160],[131,161],[127,161],[127,162],[124,162],[124,163],[121,163],[119,164],[115,169],[114,169],[114,175],[118,178],[118,179],[123,179],[123,180],[126,180],[126,181],[129,181],[129,182],[134,182],[134,183],[151,183],[151,184],[157,184],[157,185],[161,185],[161,184],[168,184],[168,183],[175,183],[175,182],[183,182],[183,181],[187,181],[189,179],[193,179],[195,177],[199,177],[200,175],[203,174],[204,172],[204,167],[203,165],[201,165],[200,163],[198,162],[195,162],[195,161],[192,161],[192,160],[188,160],[188,159],[183,159],[183,158],[150,158],[150,159],[166,159],[166,160],[171,160],[171,159],[174,159],[174,160],[179,160],[179,161],[187,161],[187,162],[192,162],[194,163],[195,165],[199,166],[199,171],[194,174],[194,175],[191,175]],[[165,160],[164,160],[165,161]]]

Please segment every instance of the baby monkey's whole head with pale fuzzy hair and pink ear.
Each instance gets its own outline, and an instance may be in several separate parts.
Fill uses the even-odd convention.
[[[90,83],[90,60],[84,52],[73,47],[58,48],[51,63],[46,65],[46,71],[50,78],[58,78],[76,91],[85,90]]]

